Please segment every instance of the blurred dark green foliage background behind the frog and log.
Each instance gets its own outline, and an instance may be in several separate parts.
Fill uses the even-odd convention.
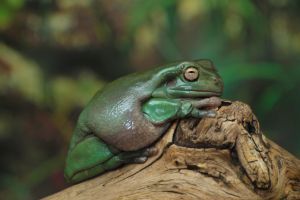
[[[0,198],[65,188],[80,110],[119,76],[214,61],[224,98],[300,155],[300,1],[0,0]]]

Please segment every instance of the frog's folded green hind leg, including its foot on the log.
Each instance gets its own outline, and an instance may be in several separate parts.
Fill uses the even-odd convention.
[[[156,154],[156,148],[120,152],[94,135],[87,136],[69,151],[65,176],[76,183],[115,169],[126,163],[144,163]]]

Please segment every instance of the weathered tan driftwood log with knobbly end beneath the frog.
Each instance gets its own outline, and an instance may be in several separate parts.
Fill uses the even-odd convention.
[[[300,199],[300,160],[267,139],[250,107],[173,124],[157,155],[45,199]]]

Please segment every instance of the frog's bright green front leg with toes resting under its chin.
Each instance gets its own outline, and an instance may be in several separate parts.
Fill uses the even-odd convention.
[[[202,100],[152,98],[143,104],[142,110],[144,116],[152,123],[164,124],[187,117],[215,117],[216,112],[209,108],[218,107],[220,104],[221,100],[217,97]]]

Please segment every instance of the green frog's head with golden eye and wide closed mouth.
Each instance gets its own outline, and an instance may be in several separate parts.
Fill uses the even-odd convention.
[[[205,98],[221,96],[223,81],[210,60],[176,63],[182,72],[153,92],[153,97]]]

